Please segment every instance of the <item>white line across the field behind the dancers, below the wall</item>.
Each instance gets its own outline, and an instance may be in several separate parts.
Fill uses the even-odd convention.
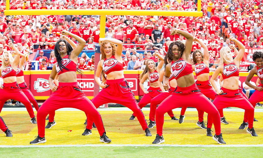
[[[36,111],[35,108],[33,108],[33,110]],[[142,110],[150,111],[150,107],[143,107]],[[15,107],[15,108],[5,107],[2,109],[2,111],[27,111],[27,109],[25,107]],[[80,110],[75,108],[61,108],[56,111],[80,111]],[[131,110],[127,107],[109,107],[109,108],[98,108],[98,111],[131,111]],[[174,109],[173,111],[181,111],[181,108]],[[187,108],[186,111],[197,111],[197,110],[195,108]],[[223,109],[223,111],[245,112],[245,110],[240,108]],[[263,112],[263,109],[255,109],[255,112]]]

